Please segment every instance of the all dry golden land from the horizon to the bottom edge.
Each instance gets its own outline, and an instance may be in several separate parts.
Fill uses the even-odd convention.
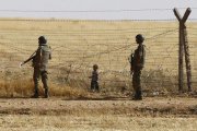
[[[0,130],[197,130],[197,23],[187,27],[194,92],[178,94],[177,22],[1,19]],[[139,33],[147,50],[144,100],[132,102],[128,57]],[[31,62],[19,64],[36,50],[40,35],[53,49],[51,98],[28,99],[33,69]],[[94,63],[100,93],[89,92]]]

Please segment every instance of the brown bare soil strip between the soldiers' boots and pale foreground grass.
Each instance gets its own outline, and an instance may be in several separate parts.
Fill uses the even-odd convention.
[[[197,99],[181,97],[146,97],[101,99],[65,98],[1,98],[1,115],[97,116],[126,115],[131,117],[192,117],[197,118]]]

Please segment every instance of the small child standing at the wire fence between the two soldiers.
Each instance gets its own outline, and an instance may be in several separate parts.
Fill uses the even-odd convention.
[[[99,80],[99,73],[97,73],[99,66],[93,66],[92,76],[89,76],[91,79],[91,91],[100,92],[100,86],[97,83]]]

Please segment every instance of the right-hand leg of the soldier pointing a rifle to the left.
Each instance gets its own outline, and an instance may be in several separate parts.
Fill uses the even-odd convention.
[[[47,71],[42,71],[42,82],[43,82],[43,86],[45,88],[45,98],[49,97],[47,81],[48,81]]]

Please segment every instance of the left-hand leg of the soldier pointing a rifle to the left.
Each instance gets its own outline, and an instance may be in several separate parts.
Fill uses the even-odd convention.
[[[39,69],[35,69],[34,68],[34,74],[33,74],[33,80],[34,80],[34,98],[38,97],[38,82],[39,82],[39,75],[40,75],[40,71]]]

